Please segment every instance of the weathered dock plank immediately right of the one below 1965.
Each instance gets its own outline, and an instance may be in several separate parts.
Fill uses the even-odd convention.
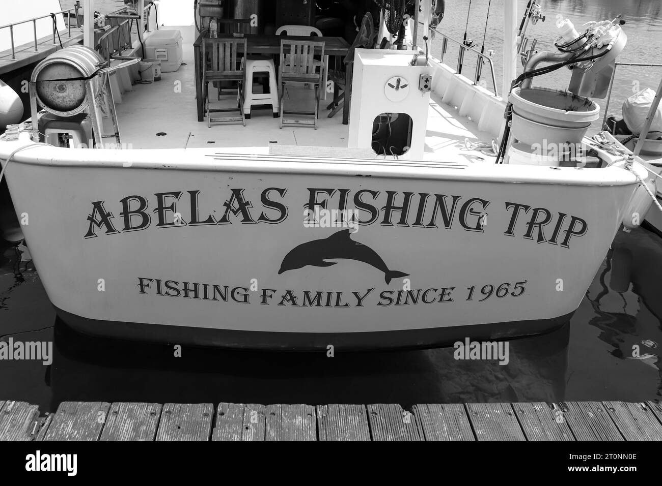
[[[575,440],[563,412],[553,407],[544,402],[512,404],[526,440]]]

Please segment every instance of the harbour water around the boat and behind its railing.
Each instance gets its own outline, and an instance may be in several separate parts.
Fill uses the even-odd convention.
[[[498,51],[503,0],[493,0],[486,44]],[[524,1],[520,8],[524,8]],[[630,42],[620,61],[661,62],[659,1],[543,0],[538,30],[551,45],[556,13],[575,24],[624,13]],[[122,1],[104,0],[109,11]],[[447,1],[444,26],[461,38],[467,3]],[[620,11],[618,10],[620,9]],[[482,42],[487,0],[473,0],[471,35]],[[482,12],[482,13],[481,13]],[[634,28],[636,26],[636,28]],[[545,38],[545,40],[543,40]],[[433,45],[433,50],[435,46]],[[434,51],[433,51],[434,52]],[[495,59],[498,60],[500,52]],[[471,72],[471,71],[469,71]],[[621,71],[625,73],[626,71]],[[556,74],[542,85],[558,87]],[[567,73],[558,74],[559,77]],[[632,80],[617,79],[621,97]],[[637,75],[655,88],[655,75]],[[497,81],[500,85],[500,79]],[[538,85],[538,81],[534,83]],[[617,106],[617,105],[614,105]],[[2,215],[0,215],[2,216]],[[54,411],[61,401],[242,403],[461,403],[483,401],[659,400],[662,395],[662,239],[620,231],[575,316],[559,331],[510,342],[510,364],[456,361],[452,349],[279,354],[83,339],[56,322],[27,249],[0,242],[0,336],[54,341],[50,366],[0,362],[0,399]],[[632,357],[633,346],[640,349]]]

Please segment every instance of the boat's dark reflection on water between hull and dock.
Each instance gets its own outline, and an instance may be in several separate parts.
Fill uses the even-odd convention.
[[[453,348],[336,354],[183,348],[83,337],[56,322],[54,409],[65,400],[217,403],[559,401],[569,326],[510,342],[510,362]]]

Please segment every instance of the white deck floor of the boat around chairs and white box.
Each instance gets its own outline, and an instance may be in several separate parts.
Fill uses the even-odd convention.
[[[193,31],[189,27],[176,27],[183,32],[183,65],[179,70],[162,73],[162,79],[151,84],[136,84],[133,91],[122,95],[117,104],[117,115],[122,143],[137,149],[153,148],[214,148],[268,147],[270,144],[307,145],[314,147],[347,147],[349,125],[342,124],[342,110],[328,118],[326,106],[332,101],[329,94],[320,100],[318,130],[308,126],[279,128],[279,118],[273,118],[271,107],[252,110],[246,126],[241,123],[216,124],[209,128],[207,120],[197,121],[195,104],[195,63],[193,58]],[[258,88],[259,89],[259,88]],[[216,90],[210,96],[216,99]],[[426,136],[425,159],[458,163],[485,161],[489,155],[467,149],[469,142],[487,142],[491,137],[479,132],[477,124],[440,101],[432,93]],[[287,89],[288,110],[310,110],[314,102],[312,89]],[[216,107],[236,107],[236,94],[229,93],[216,102]],[[233,115],[234,114],[228,114]],[[231,151],[231,150],[230,150]],[[376,156],[376,155],[375,155]],[[493,158],[493,157],[492,157]]]

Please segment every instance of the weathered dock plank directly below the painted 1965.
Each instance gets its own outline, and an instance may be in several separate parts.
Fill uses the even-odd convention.
[[[467,403],[477,440],[526,440],[510,403]]]

